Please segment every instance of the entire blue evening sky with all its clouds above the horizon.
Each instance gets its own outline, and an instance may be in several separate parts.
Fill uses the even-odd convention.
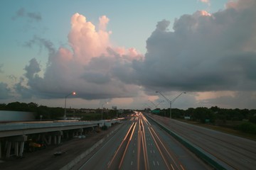
[[[0,103],[256,108],[255,18],[255,0],[2,0]]]

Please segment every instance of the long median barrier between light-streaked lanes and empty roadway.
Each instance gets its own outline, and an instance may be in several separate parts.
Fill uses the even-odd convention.
[[[161,123],[157,122],[156,120],[154,120],[150,116],[147,116],[147,117],[150,118],[152,121],[154,121],[154,123],[159,125],[163,130],[168,132],[176,140],[178,140],[178,142],[181,142],[182,145],[184,145],[191,152],[196,154],[197,157],[199,157],[204,162],[206,162],[207,164],[212,166],[214,169],[223,169],[223,170],[226,169],[223,165],[219,164],[217,162],[217,160],[215,160],[216,159],[215,157],[213,157],[212,155],[204,152],[203,149],[201,149],[200,147],[196,147],[195,145],[191,144],[191,142],[188,142],[188,140],[186,140],[184,137],[181,137],[180,135],[177,135],[175,132],[172,132],[171,130],[169,130],[169,128],[166,128],[165,125],[162,125]]]

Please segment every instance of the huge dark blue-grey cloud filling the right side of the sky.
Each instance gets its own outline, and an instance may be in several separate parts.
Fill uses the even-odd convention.
[[[141,84],[163,91],[256,89],[256,1],[227,4],[160,21],[146,41],[144,61],[134,62]]]

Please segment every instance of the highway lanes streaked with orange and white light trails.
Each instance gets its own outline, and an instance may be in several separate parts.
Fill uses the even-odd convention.
[[[79,169],[210,169],[142,113],[134,114]]]

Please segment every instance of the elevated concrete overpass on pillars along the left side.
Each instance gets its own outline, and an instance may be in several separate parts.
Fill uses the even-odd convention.
[[[60,144],[61,137],[69,135],[82,135],[85,128],[111,126],[120,120],[98,120],[98,121],[43,121],[43,122],[16,122],[0,123],[0,159],[10,157],[11,149],[17,157],[23,156],[24,144],[28,135],[37,135],[38,139],[51,145]],[[5,155],[4,155],[5,154]]]

